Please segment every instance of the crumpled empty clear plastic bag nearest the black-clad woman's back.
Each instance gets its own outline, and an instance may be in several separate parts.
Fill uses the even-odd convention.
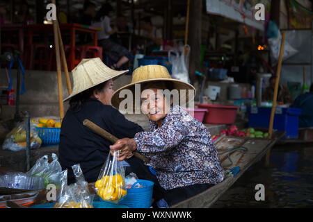
[[[35,162],[35,165],[26,174],[44,178],[45,187],[54,184],[59,189],[61,187],[62,167],[58,162],[58,156],[55,153],[52,153],[51,156],[53,159],[51,163],[48,162],[48,155],[44,155]]]

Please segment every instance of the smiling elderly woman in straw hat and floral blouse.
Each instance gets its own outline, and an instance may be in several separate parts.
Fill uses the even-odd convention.
[[[136,87],[140,87],[141,92],[138,98]],[[168,96],[166,89],[173,93]],[[120,161],[134,151],[148,157],[165,190],[163,195],[168,205],[199,194],[224,179],[207,127],[179,106],[193,99],[192,85],[172,79],[166,67],[147,65],[134,70],[131,84],[113,94],[111,103],[115,108],[125,109],[120,97],[127,92],[135,94],[132,103],[127,103],[133,107],[127,110],[136,112],[139,108],[147,114],[150,131],[136,133],[134,139],[119,139],[110,146],[111,152],[120,150]],[[136,104],[141,105],[136,107]]]

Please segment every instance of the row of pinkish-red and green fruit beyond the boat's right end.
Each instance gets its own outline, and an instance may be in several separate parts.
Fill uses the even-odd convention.
[[[248,128],[239,130],[235,125],[230,126],[226,130],[220,131],[218,135],[212,137],[213,142],[216,141],[221,135],[231,136],[231,137],[248,137],[248,138],[268,138],[268,133],[264,133],[255,128]]]

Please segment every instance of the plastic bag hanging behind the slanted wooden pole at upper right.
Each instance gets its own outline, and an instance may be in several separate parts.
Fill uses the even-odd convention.
[[[272,65],[276,65],[278,63],[278,58],[280,56],[280,45],[282,42],[282,35],[280,31],[278,31],[277,37],[271,37],[268,39],[268,44],[271,49],[271,60]],[[291,56],[294,56],[299,51],[294,49],[286,40],[284,41],[284,52],[282,53],[282,61],[287,60]]]

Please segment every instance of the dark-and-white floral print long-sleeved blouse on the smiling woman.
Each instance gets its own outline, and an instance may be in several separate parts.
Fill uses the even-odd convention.
[[[207,127],[178,105],[170,109],[160,128],[136,133],[137,151],[150,159],[160,185],[168,190],[195,184],[217,184],[224,179]]]

